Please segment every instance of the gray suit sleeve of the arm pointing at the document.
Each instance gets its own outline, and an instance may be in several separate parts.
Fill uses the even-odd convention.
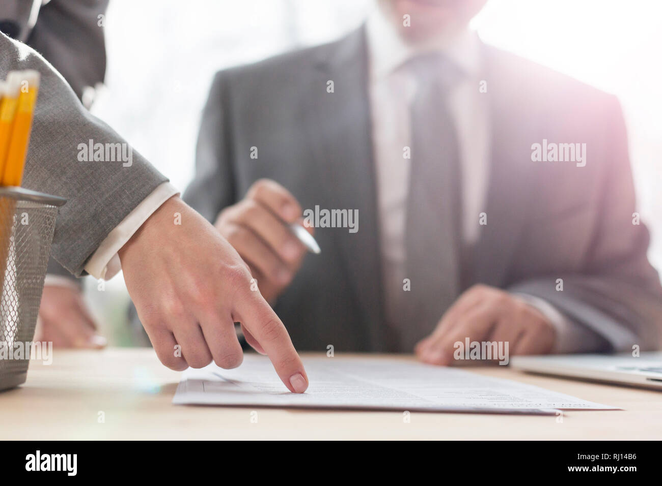
[[[167,179],[132,150],[126,163],[81,161],[81,147],[90,141],[102,146],[126,142],[89,114],[34,50],[0,34],[0,77],[11,69],[36,69],[42,75],[23,186],[68,199],[60,208],[52,255],[80,276],[108,233]]]

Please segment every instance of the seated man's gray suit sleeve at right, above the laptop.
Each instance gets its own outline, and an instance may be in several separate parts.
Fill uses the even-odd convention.
[[[509,290],[546,300],[604,338],[609,350],[632,350],[635,344],[657,349],[662,345],[662,288],[646,257],[648,230],[633,224],[636,200],[626,128],[618,102],[611,101],[604,140],[612,157],[602,171],[602,213],[583,271],[527,280]],[[557,290],[557,278],[563,290]]]

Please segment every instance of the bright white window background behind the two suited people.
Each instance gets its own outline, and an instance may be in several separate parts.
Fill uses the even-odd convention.
[[[214,72],[338,38],[371,0],[112,0],[107,89],[93,112],[183,190],[193,177],[201,109]],[[639,210],[662,268],[662,2],[491,0],[473,20],[481,38],[549,65],[622,102]],[[616,194],[614,196],[617,196]],[[88,298],[111,343],[128,344],[121,278]]]

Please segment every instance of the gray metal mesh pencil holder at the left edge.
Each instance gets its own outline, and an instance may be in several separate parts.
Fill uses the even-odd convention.
[[[65,202],[20,187],[0,188],[0,390],[27,377],[55,220]]]

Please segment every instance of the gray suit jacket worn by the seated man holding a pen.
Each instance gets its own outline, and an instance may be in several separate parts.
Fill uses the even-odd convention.
[[[657,348],[662,289],[646,259],[647,229],[632,224],[634,186],[618,102],[512,54],[488,46],[483,52],[493,128],[488,220],[471,250],[465,288],[482,282],[543,298],[602,335],[606,348]],[[326,93],[330,79],[334,93]],[[586,142],[587,165],[532,162],[531,145],[544,138]],[[258,159],[250,158],[252,146]],[[382,327],[362,29],[216,75],[185,200],[212,221],[261,177],[283,184],[303,208],[359,210],[355,234],[317,229],[321,255],[306,257],[275,305],[295,346],[391,349]]]

